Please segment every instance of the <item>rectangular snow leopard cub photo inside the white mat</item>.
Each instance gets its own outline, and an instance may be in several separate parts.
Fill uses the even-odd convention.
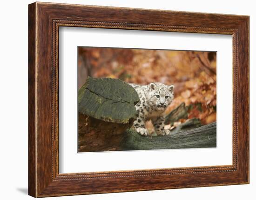
[[[77,73],[78,152],[216,148],[216,52],[79,46]]]

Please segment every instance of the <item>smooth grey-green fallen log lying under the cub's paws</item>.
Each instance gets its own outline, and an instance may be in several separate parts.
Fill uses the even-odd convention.
[[[126,130],[122,150],[173,148],[216,148],[216,122],[171,135],[142,136],[134,129]]]

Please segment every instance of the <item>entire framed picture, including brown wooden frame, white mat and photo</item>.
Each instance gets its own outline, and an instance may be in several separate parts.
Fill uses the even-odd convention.
[[[249,16],[28,8],[29,195],[249,183]]]

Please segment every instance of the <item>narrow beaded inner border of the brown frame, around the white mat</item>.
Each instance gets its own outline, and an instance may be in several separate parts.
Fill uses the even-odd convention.
[[[58,91],[59,91],[59,27],[90,27],[90,28],[114,28],[114,29],[134,29],[136,30],[154,30],[168,32],[186,32],[193,29],[193,32],[205,33],[219,33],[230,34],[233,38],[233,164],[228,166],[206,166],[206,167],[191,167],[191,168],[162,168],[162,169],[147,169],[135,171],[109,171],[109,172],[95,172],[95,173],[75,173],[75,174],[59,174],[59,123],[58,123]],[[206,31],[207,30],[207,31]],[[225,33],[223,33],[223,30]],[[173,174],[196,174],[196,173],[211,173],[211,172],[230,172],[237,171],[238,153],[237,153],[237,134],[238,134],[238,120],[237,120],[237,29],[231,28],[213,28],[213,27],[190,27],[190,26],[167,26],[167,25],[149,25],[149,24],[132,24],[132,23],[118,23],[118,22],[103,22],[103,21],[82,21],[82,20],[67,20],[67,19],[53,19],[52,20],[52,178],[57,180],[80,180],[91,178],[115,178],[115,177],[135,177],[135,176],[150,176],[150,175],[173,175]],[[133,175],[132,175],[133,174]]]

